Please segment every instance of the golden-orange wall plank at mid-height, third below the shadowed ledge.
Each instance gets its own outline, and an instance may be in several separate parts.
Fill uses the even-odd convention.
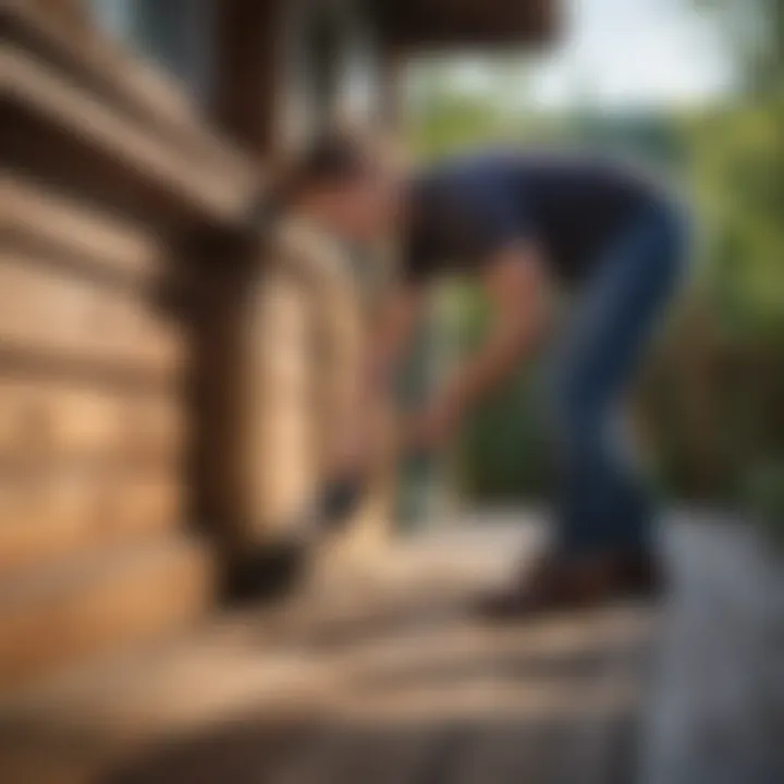
[[[0,466],[66,458],[171,463],[183,455],[184,439],[173,394],[0,377]]]

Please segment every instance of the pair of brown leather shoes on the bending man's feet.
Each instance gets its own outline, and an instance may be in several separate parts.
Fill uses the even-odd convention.
[[[549,612],[581,610],[611,599],[654,596],[661,588],[657,560],[644,553],[542,556],[510,589],[485,597],[486,617],[520,618]]]

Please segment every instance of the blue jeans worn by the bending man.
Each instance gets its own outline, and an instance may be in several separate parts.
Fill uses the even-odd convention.
[[[648,551],[654,504],[621,432],[621,403],[674,294],[686,259],[686,221],[651,204],[604,248],[556,356],[560,488],[555,547],[568,553]]]

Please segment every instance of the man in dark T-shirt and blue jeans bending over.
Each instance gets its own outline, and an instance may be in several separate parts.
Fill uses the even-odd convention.
[[[528,614],[653,592],[653,509],[614,430],[684,261],[684,223],[669,198],[623,168],[511,151],[405,177],[340,137],[314,145],[289,186],[296,211],[353,245],[399,237],[401,283],[380,314],[369,394],[391,382],[441,273],[475,274],[493,305],[483,347],[414,417],[411,449],[440,446],[549,336],[552,284],[571,294],[550,393],[561,475],[553,541],[486,609]],[[354,441],[346,470],[363,465],[367,438]]]

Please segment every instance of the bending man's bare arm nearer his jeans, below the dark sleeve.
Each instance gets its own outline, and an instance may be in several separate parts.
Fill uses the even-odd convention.
[[[415,421],[413,438],[421,446],[440,443],[467,408],[506,379],[539,343],[549,321],[547,274],[532,246],[499,252],[486,267],[483,283],[493,306],[491,332]]]

